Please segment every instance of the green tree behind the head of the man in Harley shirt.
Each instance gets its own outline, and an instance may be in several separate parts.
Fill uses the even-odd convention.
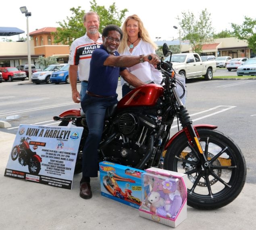
[[[108,10],[105,6],[98,6],[96,0],[92,0],[91,11],[97,12],[100,16],[99,31],[102,33],[103,28],[109,24],[115,24],[119,27],[125,17],[125,13],[128,11],[126,8],[123,10],[117,10],[115,3],[109,6]],[[85,34],[85,27],[83,25],[83,15],[85,10],[81,10],[81,6],[77,8],[71,8],[71,17],[66,17],[63,22],[57,22],[60,27],[57,27],[57,31],[54,34],[54,43],[62,43],[64,45],[71,45],[71,43]],[[88,10],[89,11],[89,10]],[[87,12],[87,11],[86,11]]]

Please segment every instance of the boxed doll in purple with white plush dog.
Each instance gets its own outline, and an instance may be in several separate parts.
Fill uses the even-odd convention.
[[[175,228],[187,218],[187,175],[160,168],[142,174],[139,216]]]

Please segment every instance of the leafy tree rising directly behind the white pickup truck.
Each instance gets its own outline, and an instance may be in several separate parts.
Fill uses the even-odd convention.
[[[182,41],[188,40],[194,52],[200,53],[205,43],[213,41],[212,21],[210,21],[210,13],[202,10],[199,18],[191,12],[182,12],[183,18],[177,18],[181,27]]]

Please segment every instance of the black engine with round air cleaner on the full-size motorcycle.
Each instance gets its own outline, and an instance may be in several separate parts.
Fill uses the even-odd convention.
[[[158,128],[157,117],[123,113],[115,119],[115,127],[120,135],[104,149],[110,161],[135,166],[148,154],[148,140],[152,131]]]

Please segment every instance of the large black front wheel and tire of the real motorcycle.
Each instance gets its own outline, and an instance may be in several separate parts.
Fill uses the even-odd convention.
[[[189,146],[185,132],[167,149],[164,169],[187,174],[187,205],[196,209],[218,209],[231,203],[243,189],[246,162],[231,138],[217,130],[197,131],[209,169],[202,170],[200,153]]]

